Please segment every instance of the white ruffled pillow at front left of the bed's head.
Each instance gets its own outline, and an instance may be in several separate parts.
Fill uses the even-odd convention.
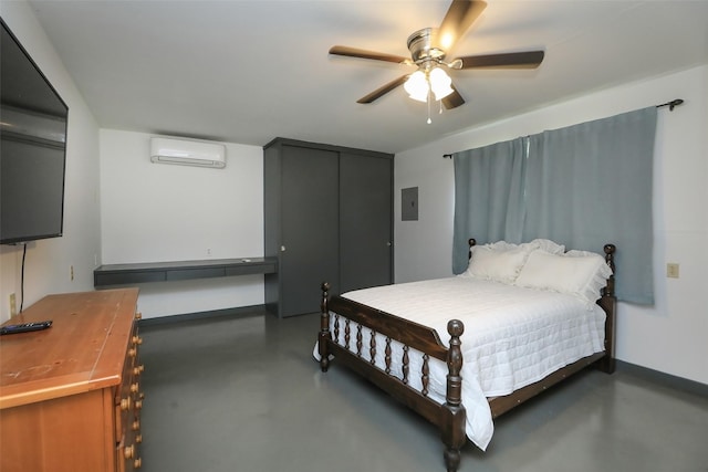
[[[529,251],[516,244],[475,245],[467,274],[476,279],[510,284],[517,280],[528,256]]]

